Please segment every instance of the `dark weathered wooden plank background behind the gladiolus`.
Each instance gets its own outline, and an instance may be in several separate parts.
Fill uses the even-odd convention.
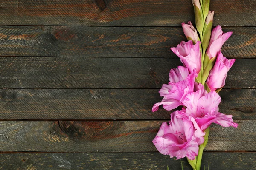
[[[210,9],[233,31],[220,111],[239,127],[211,126],[202,165],[256,170],[256,0]],[[151,142],[170,112],[151,107],[189,20],[191,0],[1,0],[0,169],[180,170]]]

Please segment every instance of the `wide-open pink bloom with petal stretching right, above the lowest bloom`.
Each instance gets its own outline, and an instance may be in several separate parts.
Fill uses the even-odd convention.
[[[198,92],[192,92],[186,96],[184,105],[186,110],[176,111],[177,117],[193,122],[194,126],[199,126],[201,130],[206,130],[212,123],[219,124],[223,127],[237,127],[238,124],[233,122],[232,115],[225,115],[218,112],[218,105],[221,97],[211,91],[205,96]]]

